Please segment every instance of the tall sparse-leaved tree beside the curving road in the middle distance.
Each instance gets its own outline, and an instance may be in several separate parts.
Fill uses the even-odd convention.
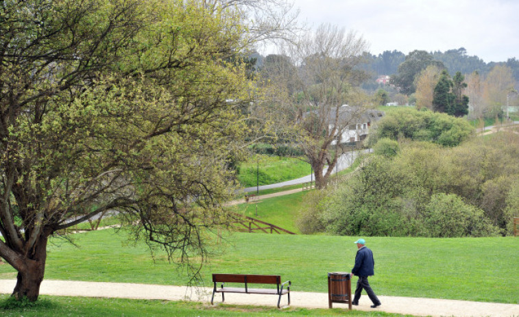
[[[298,66],[298,89],[291,97],[295,112],[295,137],[315,172],[315,186],[324,188],[337,160],[343,134],[357,124],[362,107],[346,107],[355,99],[354,86],[365,78],[357,66],[363,60],[366,42],[354,32],[333,25],[320,25],[291,47],[289,56]],[[324,173],[324,167],[328,170]]]

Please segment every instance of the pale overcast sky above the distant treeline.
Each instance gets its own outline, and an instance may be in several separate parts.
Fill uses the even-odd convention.
[[[354,30],[378,55],[464,47],[485,62],[519,59],[519,0],[293,0],[300,20]]]

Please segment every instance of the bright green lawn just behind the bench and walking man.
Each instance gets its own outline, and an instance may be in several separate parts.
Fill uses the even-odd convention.
[[[519,303],[517,238],[366,238],[376,259],[370,279],[377,294]],[[349,271],[352,237],[236,233],[202,270],[279,274],[294,291],[327,292],[327,272]],[[188,277],[144,244],[128,246],[112,229],[81,233],[81,247],[53,240],[46,279],[185,285]],[[7,264],[0,278],[14,278]]]

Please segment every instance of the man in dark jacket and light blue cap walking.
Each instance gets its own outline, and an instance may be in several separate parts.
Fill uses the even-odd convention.
[[[362,289],[364,289],[367,292],[367,296],[370,297],[373,302],[371,307],[376,308],[382,305],[382,303],[378,300],[378,297],[376,297],[375,292],[373,292],[370,283],[367,281],[367,277],[375,274],[375,260],[373,259],[373,252],[370,249],[367,249],[364,239],[359,239],[353,243],[357,243],[357,248],[359,248],[359,250],[355,256],[355,266],[352,268],[352,276],[357,275],[359,280],[357,281],[357,289],[355,289],[355,296],[352,305],[359,305],[361,292]]]

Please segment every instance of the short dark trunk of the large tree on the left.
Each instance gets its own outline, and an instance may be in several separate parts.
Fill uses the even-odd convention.
[[[47,259],[47,238],[40,238],[36,243],[32,259],[21,259],[23,264],[18,269],[16,286],[12,296],[18,300],[27,298],[36,301],[40,295],[40,285],[45,274],[45,260]]]

